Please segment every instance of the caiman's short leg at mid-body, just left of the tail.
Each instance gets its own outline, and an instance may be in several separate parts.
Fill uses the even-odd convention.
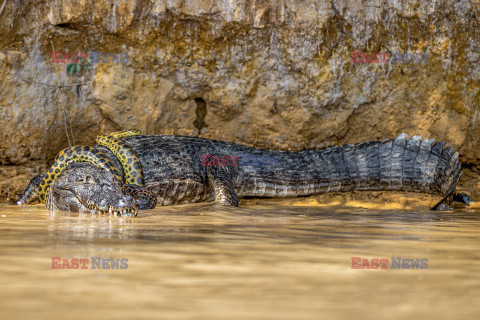
[[[231,167],[208,167],[208,177],[215,190],[215,201],[238,207],[238,197],[233,187]]]

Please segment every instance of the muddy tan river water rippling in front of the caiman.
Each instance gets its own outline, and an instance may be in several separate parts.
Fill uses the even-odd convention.
[[[0,205],[0,318],[479,319],[479,218],[215,204],[118,218]],[[352,269],[352,257],[387,268]],[[74,258],[88,263],[57,269]]]

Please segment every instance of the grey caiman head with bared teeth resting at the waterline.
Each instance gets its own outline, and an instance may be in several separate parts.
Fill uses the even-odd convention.
[[[70,165],[47,195],[49,210],[137,215],[137,201],[122,192],[112,173],[91,163]]]

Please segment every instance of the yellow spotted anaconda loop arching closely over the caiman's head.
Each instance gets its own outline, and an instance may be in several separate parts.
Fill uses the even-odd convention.
[[[48,170],[47,176],[40,183],[38,197],[41,203],[45,203],[50,185],[53,181],[73,162],[90,162],[97,167],[110,171],[114,176],[115,182],[123,189],[122,174],[104,152],[88,146],[67,147],[60,151],[50,170]]]

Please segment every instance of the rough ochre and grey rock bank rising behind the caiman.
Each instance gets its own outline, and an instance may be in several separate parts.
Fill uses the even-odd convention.
[[[406,132],[478,163],[478,1],[6,1],[0,173],[22,181],[128,128],[284,150]],[[53,51],[102,54],[68,75]]]

